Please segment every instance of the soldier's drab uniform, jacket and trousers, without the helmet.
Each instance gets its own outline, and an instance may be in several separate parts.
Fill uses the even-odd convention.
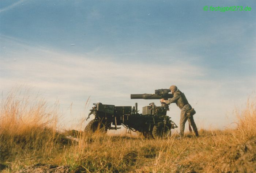
[[[193,116],[190,118],[187,117],[187,112],[192,109],[191,105],[188,103],[188,100],[186,99],[184,93],[182,93],[180,90],[177,90],[173,93],[173,98],[166,101],[166,104],[170,103],[176,103],[177,106],[181,109],[180,113],[180,135],[181,137],[184,135],[184,129],[185,129],[185,123],[189,122],[189,124],[192,126],[196,136],[198,136],[197,127],[195,124],[195,121],[193,119]]]

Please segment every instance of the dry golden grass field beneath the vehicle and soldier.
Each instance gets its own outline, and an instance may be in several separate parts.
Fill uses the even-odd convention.
[[[57,131],[57,106],[44,101],[2,100],[2,172],[33,164],[68,165],[71,172],[256,172],[256,102],[237,111],[237,128],[200,130],[200,137],[144,139],[142,136],[88,136]],[[235,116],[235,115],[234,115]]]

